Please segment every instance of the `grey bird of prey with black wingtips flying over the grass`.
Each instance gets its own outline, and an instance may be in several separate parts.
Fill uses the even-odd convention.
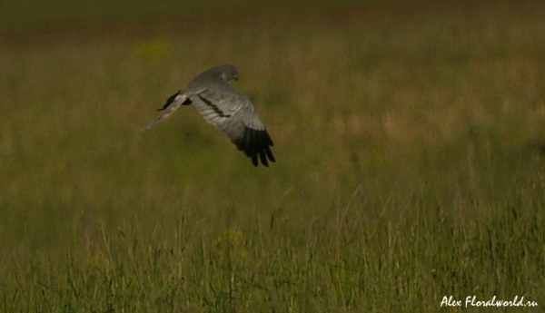
[[[239,93],[228,81],[238,79],[238,72],[233,65],[213,67],[195,78],[182,90],[170,96],[157,118],[142,128],[142,132],[154,127],[172,114],[180,105],[192,104],[201,113],[206,122],[213,124],[231,142],[252,159],[257,166],[259,160],[265,167],[272,156],[271,136],[263,126],[263,122],[253,112],[253,105],[243,93]]]

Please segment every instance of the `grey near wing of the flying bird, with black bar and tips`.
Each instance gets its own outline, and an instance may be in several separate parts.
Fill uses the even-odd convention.
[[[269,161],[275,161],[270,148],[274,144],[263,122],[253,112],[250,100],[230,83],[218,80],[197,93],[187,93],[187,97],[207,122],[252,159],[254,166],[258,165],[258,158],[265,167]]]

